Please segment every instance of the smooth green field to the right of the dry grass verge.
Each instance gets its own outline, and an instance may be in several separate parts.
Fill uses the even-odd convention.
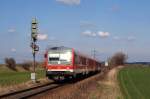
[[[126,67],[118,80],[124,99],[150,99],[150,67]]]

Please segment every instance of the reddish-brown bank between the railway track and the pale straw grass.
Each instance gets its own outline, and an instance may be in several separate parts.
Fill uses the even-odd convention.
[[[97,80],[103,79],[105,73],[96,73],[88,77],[77,79],[75,82],[50,90],[30,99],[80,99],[90,85],[95,85]],[[87,97],[83,98],[86,99]]]

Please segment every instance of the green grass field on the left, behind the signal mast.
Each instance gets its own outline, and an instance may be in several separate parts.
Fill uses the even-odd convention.
[[[5,66],[0,67],[0,86],[11,86],[16,85],[20,83],[24,83],[30,80],[30,71],[20,70],[20,71],[12,71]],[[36,70],[36,77],[44,78],[45,77],[45,71],[43,69],[37,69]]]

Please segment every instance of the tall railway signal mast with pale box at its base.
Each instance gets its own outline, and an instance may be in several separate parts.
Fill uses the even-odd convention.
[[[37,22],[36,18],[33,18],[32,22],[31,22],[31,45],[30,45],[32,48],[32,54],[33,54],[33,71],[31,73],[31,80],[33,82],[36,82],[35,54],[37,51],[39,51],[39,46],[36,44],[37,35],[38,35],[38,22]]]

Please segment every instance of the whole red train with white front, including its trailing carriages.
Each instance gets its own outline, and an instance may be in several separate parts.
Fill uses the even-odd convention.
[[[49,79],[74,78],[101,70],[101,63],[73,48],[53,47],[45,53],[46,76]]]

